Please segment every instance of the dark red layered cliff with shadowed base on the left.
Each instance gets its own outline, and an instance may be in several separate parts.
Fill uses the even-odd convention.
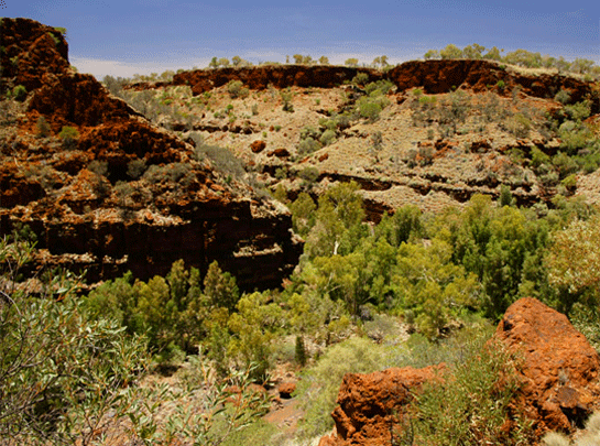
[[[75,73],[57,30],[26,19],[1,26],[0,93],[23,85],[28,97],[3,101],[13,121],[0,132],[0,236],[33,229],[33,271],[85,269],[96,282],[131,270],[146,280],[177,259],[203,273],[217,260],[244,290],[291,273],[302,243],[285,207]],[[74,141],[59,138],[65,126]]]

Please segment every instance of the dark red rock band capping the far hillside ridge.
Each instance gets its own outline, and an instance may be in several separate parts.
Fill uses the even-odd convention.
[[[178,73],[171,83],[134,84],[128,88],[159,88],[167,85],[189,85],[194,95],[200,95],[221,87],[230,80],[241,80],[252,89],[265,89],[270,85],[283,89],[287,87],[332,88],[345,81],[351,81],[359,73],[368,76],[367,83],[380,79],[391,80],[404,91],[423,88],[427,94],[443,94],[455,88],[470,89],[476,93],[495,89],[509,95],[519,87],[527,96],[554,98],[565,89],[572,101],[593,95],[591,83],[558,74],[525,75],[505,68],[495,62],[482,59],[410,61],[383,73],[373,68],[358,68],[323,65],[261,65],[251,67],[227,67],[217,69],[196,69]],[[499,88],[497,84],[504,85]],[[598,104],[592,104],[592,112],[600,111]]]

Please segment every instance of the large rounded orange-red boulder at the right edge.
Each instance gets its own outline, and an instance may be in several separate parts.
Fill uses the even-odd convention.
[[[509,307],[494,336],[523,357],[516,403],[537,429],[581,427],[600,395],[600,358],[567,317],[522,298]]]

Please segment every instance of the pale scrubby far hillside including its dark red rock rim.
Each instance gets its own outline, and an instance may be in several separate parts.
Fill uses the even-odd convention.
[[[233,91],[234,83],[246,91]],[[378,83],[386,85],[386,101],[377,117],[367,117],[361,107]],[[388,70],[200,69],[126,88],[138,105],[140,94],[152,91],[173,111],[157,122],[228,148],[290,198],[358,182],[374,219],[405,204],[439,211],[476,193],[498,197],[503,185],[527,206],[553,206],[557,193],[598,196],[583,175],[565,192],[558,180],[567,175],[545,177],[531,163],[533,149],[548,156],[560,150],[558,93],[568,94],[568,104],[590,100],[592,115],[600,110],[598,86],[572,76],[489,61],[413,61]]]

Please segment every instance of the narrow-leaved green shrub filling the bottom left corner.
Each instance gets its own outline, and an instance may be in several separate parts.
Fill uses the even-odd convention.
[[[67,273],[48,274],[43,295],[17,287],[32,254],[26,241],[0,240],[0,440],[89,444],[127,411],[122,391],[148,363],[145,344],[114,320],[90,319]]]

